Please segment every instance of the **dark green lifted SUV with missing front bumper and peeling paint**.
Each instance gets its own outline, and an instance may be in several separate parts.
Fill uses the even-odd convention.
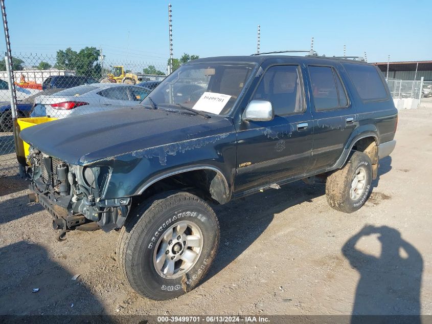
[[[203,93],[183,88],[192,77]],[[196,287],[214,261],[212,204],[320,176],[330,207],[359,209],[396,145],[397,116],[365,62],[228,56],[183,64],[139,105],[20,136],[31,143],[30,198],[51,213],[58,239],[92,225],[120,230],[126,281],[163,300]]]

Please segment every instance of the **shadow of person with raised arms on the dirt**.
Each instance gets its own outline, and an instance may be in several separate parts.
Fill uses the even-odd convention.
[[[372,234],[379,235],[379,257],[363,253],[355,247],[361,237]],[[364,323],[362,315],[404,315],[404,323],[421,322],[423,260],[419,251],[403,240],[398,230],[388,226],[365,226],[345,243],[342,253],[351,267],[360,273],[351,323]],[[367,322],[382,320],[379,316],[368,316]]]

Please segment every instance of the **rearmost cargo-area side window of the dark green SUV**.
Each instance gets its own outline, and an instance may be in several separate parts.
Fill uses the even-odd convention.
[[[361,99],[380,100],[389,97],[375,67],[344,63],[344,68]]]

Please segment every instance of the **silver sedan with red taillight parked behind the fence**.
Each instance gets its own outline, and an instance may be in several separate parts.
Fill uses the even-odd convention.
[[[37,97],[31,117],[64,118],[119,109],[136,105],[149,93],[149,90],[137,85],[122,83],[79,85],[52,95]]]

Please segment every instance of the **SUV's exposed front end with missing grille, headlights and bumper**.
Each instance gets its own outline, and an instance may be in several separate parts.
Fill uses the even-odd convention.
[[[53,218],[54,229],[110,231],[123,226],[131,198],[103,199],[111,169],[108,166],[72,165],[30,147],[28,175],[30,201],[39,202]]]

